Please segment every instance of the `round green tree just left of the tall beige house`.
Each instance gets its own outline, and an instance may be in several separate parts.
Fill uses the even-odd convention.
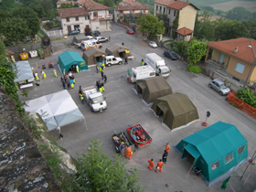
[[[159,21],[156,16],[145,15],[137,18],[136,23],[140,25],[138,28],[141,32],[150,34],[153,37],[165,33],[164,21]]]

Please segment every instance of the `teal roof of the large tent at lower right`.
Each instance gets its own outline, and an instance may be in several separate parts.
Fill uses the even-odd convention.
[[[229,155],[234,149],[247,143],[235,125],[223,122],[214,123],[183,141],[193,144],[208,164],[213,164],[219,158]]]

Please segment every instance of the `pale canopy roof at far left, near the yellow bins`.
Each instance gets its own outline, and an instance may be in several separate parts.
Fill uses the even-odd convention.
[[[14,68],[16,68],[16,79],[15,82],[33,79],[33,71],[27,60],[17,61],[14,64]]]

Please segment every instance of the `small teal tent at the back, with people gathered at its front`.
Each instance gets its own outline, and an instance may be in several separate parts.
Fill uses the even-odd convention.
[[[78,65],[80,70],[88,70],[87,63],[75,51],[66,51],[59,55],[59,69],[66,74],[73,65]]]

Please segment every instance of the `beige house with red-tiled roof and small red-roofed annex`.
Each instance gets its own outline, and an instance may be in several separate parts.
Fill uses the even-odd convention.
[[[189,40],[193,37],[197,6],[184,1],[155,0],[154,16],[166,15],[168,18],[168,34],[177,40]],[[175,35],[175,36],[174,36]]]

